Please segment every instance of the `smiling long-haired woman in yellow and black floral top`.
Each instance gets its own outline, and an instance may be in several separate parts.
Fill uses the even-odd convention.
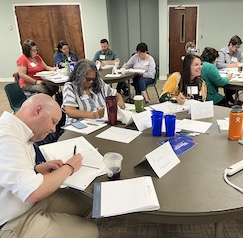
[[[184,104],[185,99],[206,100],[207,87],[200,77],[202,61],[200,56],[187,54],[181,73],[175,72],[167,79],[159,96],[160,102],[172,101]]]

